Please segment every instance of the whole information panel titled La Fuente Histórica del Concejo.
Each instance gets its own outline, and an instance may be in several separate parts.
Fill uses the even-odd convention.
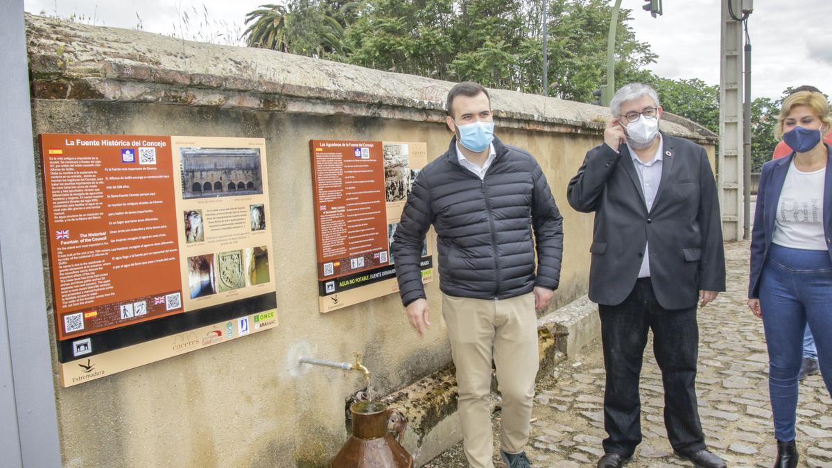
[[[265,140],[41,149],[63,386],[276,326]]]

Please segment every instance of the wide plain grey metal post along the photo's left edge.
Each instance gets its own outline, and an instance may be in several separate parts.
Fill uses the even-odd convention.
[[[23,0],[0,1],[0,449],[2,466],[61,466],[43,286]]]

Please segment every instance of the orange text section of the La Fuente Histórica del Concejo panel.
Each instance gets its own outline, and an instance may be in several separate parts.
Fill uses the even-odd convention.
[[[59,340],[182,311],[170,138],[131,143],[42,136]]]

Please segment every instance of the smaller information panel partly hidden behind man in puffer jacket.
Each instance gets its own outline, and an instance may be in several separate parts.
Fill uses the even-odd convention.
[[[310,141],[318,254],[319,311],[399,290],[393,235],[418,172],[423,142]],[[423,281],[433,281],[425,242]]]

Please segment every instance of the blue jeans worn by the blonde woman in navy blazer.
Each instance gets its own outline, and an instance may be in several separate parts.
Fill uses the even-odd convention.
[[[832,261],[827,251],[772,244],[760,277],[760,311],[769,349],[769,394],[778,441],[795,439],[797,375],[806,324],[817,341],[818,364],[832,395]]]

